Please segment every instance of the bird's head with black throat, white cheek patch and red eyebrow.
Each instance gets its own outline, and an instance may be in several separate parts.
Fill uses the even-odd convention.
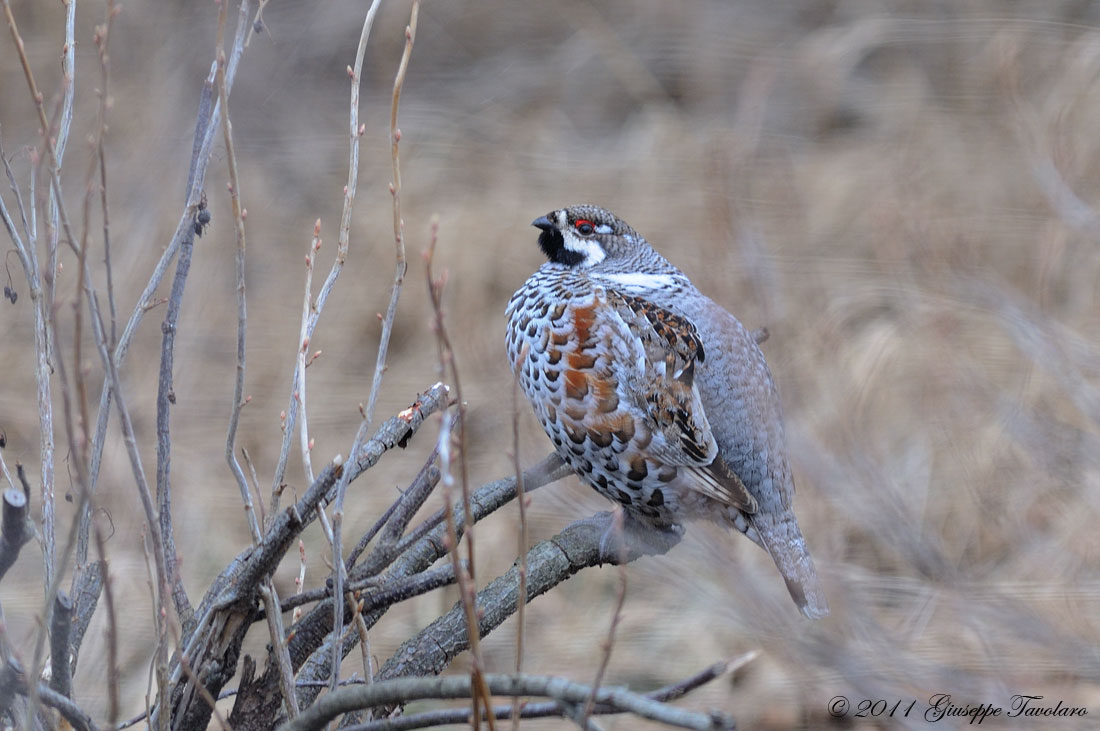
[[[569,267],[590,268],[629,258],[645,241],[626,222],[597,206],[570,206],[531,222],[542,233],[539,247],[547,258]]]

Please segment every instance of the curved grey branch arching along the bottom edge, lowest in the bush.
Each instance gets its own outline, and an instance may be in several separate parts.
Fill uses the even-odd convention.
[[[592,688],[565,678],[543,675],[486,674],[483,683],[494,695],[546,696],[564,704],[582,704]],[[344,686],[320,698],[280,731],[312,731],[322,728],[341,713],[426,698],[470,698],[474,690],[469,675],[446,677],[407,677],[380,680],[373,685]],[[475,691],[475,690],[474,690]],[[598,702],[640,718],[660,721],[684,729],[733,729],[732,718],[718,713],[686,711],[622,688],[596,691]],[[476,721],[476,719],[474,719]]]

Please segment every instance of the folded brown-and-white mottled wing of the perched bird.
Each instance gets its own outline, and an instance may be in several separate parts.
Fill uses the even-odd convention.
[[[681,467],[689,485],[719,502],[756,512],[757,501],[718,456],[695,386],[695,364],[706,358],[703,341],[686,318],[650,300],[606,290],[607,311],[622,322],[619,336],[632,341],[635,357],[620,359],[628,392],[648,427],[663,436],[651,450],[661,462]],[[640,356],[640,357],[639,357]],[[623,362],[626,363],[623,363]]]

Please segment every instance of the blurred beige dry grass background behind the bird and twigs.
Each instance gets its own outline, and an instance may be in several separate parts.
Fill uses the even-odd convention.
[[[252,402],[239,440],[262,481],[277,455],[316,218],[326,236],[319,266],[334,253],[346,174],[344,69],[363,11],[360,2],[272,2],[270,35],[253,40],[230,102],[250,245]],[[40,85],[56,89],[59,3],[16,2],[15,13]],[[324,354],[309,369],[315,463],[346,453],[370,388],[374,314],[392,276],[388,99],[407,18],[407,2],[384,4],[369,47],[351,256],[314,340]],[[94,122],[90,27],[100,5],[85,3],[78,19],[74,206]],[[179,214],[215,21],[213,3],[131,2],[111,38],[108,155],[124,312]],[[35,140],[7,36],[0,124],[9,152]],[[400,126],[411,266],[378,414],[437,379],[418,254],[438,213],[475,483],[510,470],[503,310],[541,263],[528,222],[551,208],[615,210],[746,324],[771,331],[765,351],[787,410],[796,508],[833,616],[802,620],[762,552],[697,525],[670,555],[630,566],[608,683],[647,689],[759,649],[733,680],[683,702],[774,729],[818,727],[837,695],[892,704],[952,693],[960,705],[1008,706],[1024,693],[1100,713],[1096,5],[428,2]],[[196,246],[172,416],[176,536],[195,596],[249,541],[221,456],[235,334],[233,233],[223,154],[216,157],[213,222]],[[18,289],[25,296],[22,283]],[[0,308],[0,425],[9,462],[36,474],[25,302]],[[162,317],[146,319],[123,368],[147,470]],[[64,307],[62,320],[72,326]],[[89,366],[98,379],[98,361]],[[418,438],[353,485],[346,532],[388,505],[430,442]],[[548,451],[526,406],[520,448],[526,462]],[[288,474],[301,489],[297,462]],[[125,710],[135,712],[152,623],[142,518],[117,439],[100,490],[125,607]],[[544,488],[529,512],[534,536],[603,508],[575,480]],[[67,521],[72,506],[58,512]],[[479,536],[484,583],[515,557],[515,507]],[[316,527],[308,539],[312,586],[327,569]],[[15,636],[33,629],[40,561],[29,546],[0,587]],[[293,590],[290,564],[278,575],[284,594]],[[615,586],[614,569],[590,571],[538,599],[527,668],[591,680]],[[372,633],[374,653],[384,660],[454,600],[441,591],[391,612]],[[509,622],[485,642],[491,668],[512,666],[514,633]],[[76,678],[94,715],[103,709],[103,646],[94,624]],[[22,647],[30,652],[30,641]]]

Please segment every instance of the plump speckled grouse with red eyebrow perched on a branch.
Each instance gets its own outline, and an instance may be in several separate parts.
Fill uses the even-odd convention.
[[[531,225],[547,262],[508,301],[506,344],[558,455],[623,506],[632,533],[664,546],[650,553],[674,545],[685,521],[733,527],[771,555],[803,616],[826,617],[779,394],[752,334],[604,208]]]

